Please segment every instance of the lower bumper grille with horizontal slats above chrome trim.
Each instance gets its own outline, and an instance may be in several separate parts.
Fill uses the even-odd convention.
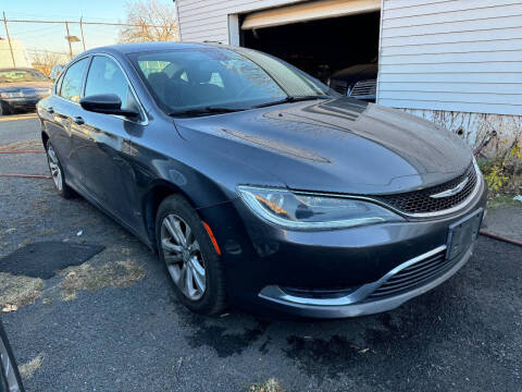
[[[364,301],[383,299],[395,296],[433,281],[451,269],[459,258],[446,259],[446,250],[401,269],[378,286]]]

